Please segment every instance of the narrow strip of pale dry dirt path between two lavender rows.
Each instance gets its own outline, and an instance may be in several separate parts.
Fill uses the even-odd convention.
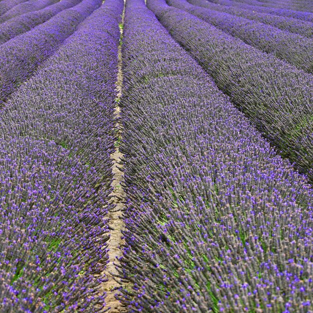
[[[123,14],[124,16],[124,14]],[[122,21],[123,24],[123,21]],[[120,25],[120,33],[122,36],[122,24]],[[122,71],[121,71],[121,44],[118,47],[118,74],[117,74],[117,82],[116,82],[116,106],[115,106],[115,118],[116,118],[116,141],[115,141],[115,151],[111,154],[112,162],[113,162],[113,191],[111,193],[112,195],[112,201],[116,204],[116,207],[114,211],[111,211],[108,213],[107,217],[109,220],[109,226],[110,226],[110,239],[108,240],[108,255],[109,255],[109,262],[106,266],[105,273],[107,275],[108,281],[106,281],[103,284],[103,291],[107,292],[107,296],[105,298],[106,307],[110,306],[109,313],[119,313],[119,312],[126,312],[127,310],[125,307],[115,299],[114,294],[116,293],[116,290],[114,290],[115,287],[120,287],[120,284],[115,281],[113,274],[116,274],[117,271],[115,269],[115,266],[113,264],[117,263],[116,257],[120,257],[122,255],[121,250],[119,249],[119,246],[123,244],[123,240],[121,239],[121,230],[124,227],[123,220],[120,218],[121,212],[123,209],[123,198],[124,198],[124,192],[120,185],[122,181],[122,171],[118,168],[121,167],[120,165],[120,157],[122,156],[122,153],[119,151],[119,142],[121,139],[121,133],[122,133],[122,124],[119,121],[120,116],[120,107],[118,106],[119,98],[121,96],[121,86],[122,86]]]

